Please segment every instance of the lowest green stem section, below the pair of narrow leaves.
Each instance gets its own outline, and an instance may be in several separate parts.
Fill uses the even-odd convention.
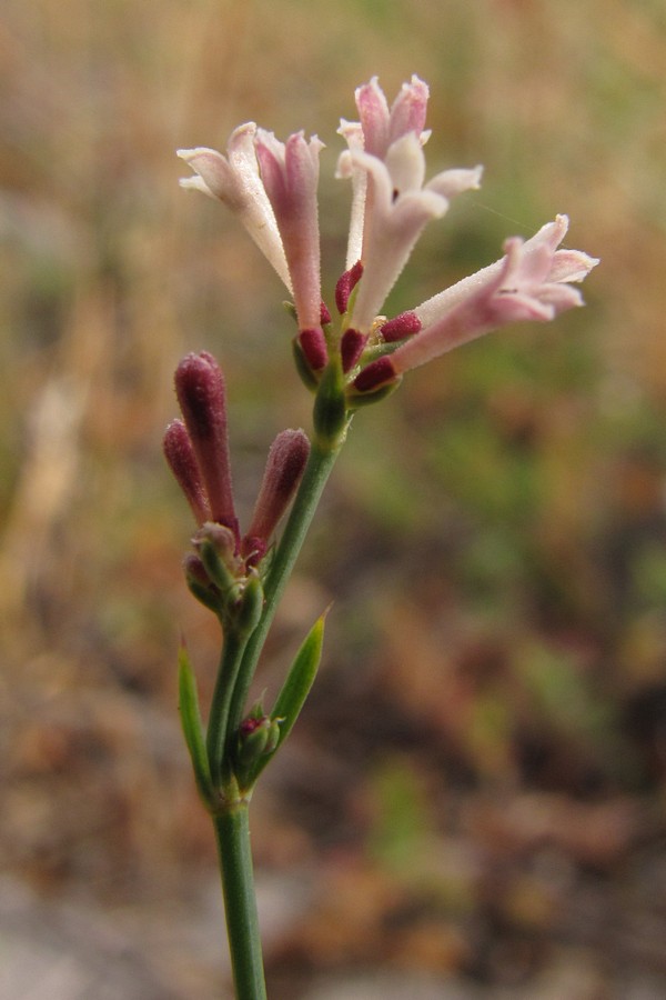
[[[266,1000],[248,803],[213,817],[236,1000]]]

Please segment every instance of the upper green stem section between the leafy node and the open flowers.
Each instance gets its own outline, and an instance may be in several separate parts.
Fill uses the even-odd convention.
[[[241,662],[229,713],[230,732],[234,732],[242,721],[256,662],[341,446],[342,441],[336,448],[323,449],[315,441],[310,451],[299,492],[266,577],[263,613],[250,637]]]

